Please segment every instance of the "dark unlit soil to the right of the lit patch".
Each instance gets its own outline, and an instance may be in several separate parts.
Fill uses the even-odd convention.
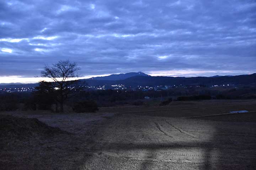
[[[215,132],[206,148],[204,169],[256,169],[256,114],[206,117],[229,126],[214,126]],[[214,151],[218,151],[214,155]],[[212,158],[217,158],[215,161]]]

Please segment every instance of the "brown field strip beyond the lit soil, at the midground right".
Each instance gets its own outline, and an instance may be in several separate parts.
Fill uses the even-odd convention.
[[[228,113],[230,111],[247,110],[256,111],[255,100],[207,100],[207,101],[187,101],[171,102],[167,106],[130,106],[100,108],[99,113],[132,113],[136,115],[149,115],[160,117],[193,117],[210,114]]]

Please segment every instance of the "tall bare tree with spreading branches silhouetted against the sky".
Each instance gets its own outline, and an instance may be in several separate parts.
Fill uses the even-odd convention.
[[[60,104],[60,112],[63,112],[64,101],[72,97],[80,88],[78,80],[70,80],[70,78],[78,77],[76,74],[78,70],[79,67],[75,62],[65,60],[52,64],[51,67],[45,66],[41,72],[42,77],[48,77],[53,80],[51,84],[55,89],[55,100]]]

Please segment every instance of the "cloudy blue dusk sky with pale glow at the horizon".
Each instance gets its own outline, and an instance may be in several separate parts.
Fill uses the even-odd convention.
[[[255,49],[255,0],[0,1],[0,83],[59,60],[83,78],[252,74]]]

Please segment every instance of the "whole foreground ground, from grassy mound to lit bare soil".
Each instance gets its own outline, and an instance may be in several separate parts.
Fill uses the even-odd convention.
[[[244,109],[251,113],[198,117]],[[208,101],[87,114],[5,112],[0,169],[256,169],[255,111],[255,101]]]

